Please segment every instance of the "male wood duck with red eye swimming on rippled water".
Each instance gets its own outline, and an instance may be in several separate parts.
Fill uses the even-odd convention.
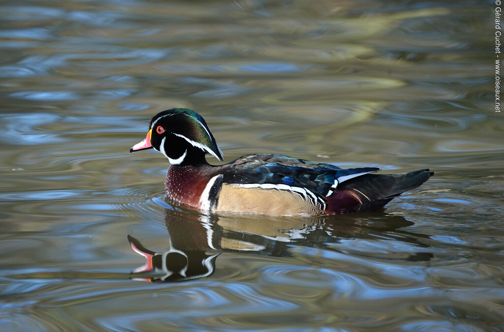
[[[151,119],[147,137],[130,152],[155,149],[168,158],[166,195],[200,211],[277,216],[317,216],[374,211],[418,187],[434,173],[370,174],[376,167],[349,168],[271,154],[223,161],[203,117],[187,108],[162,111]]]

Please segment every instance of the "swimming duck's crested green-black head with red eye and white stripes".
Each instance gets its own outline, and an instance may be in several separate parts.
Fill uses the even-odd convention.
[[[154,115],[147,137],[130,152],[146,149],[161,152],[172,165],[203,162],[207,153],[224,160],[203,117],[187,108],[172,108]]]

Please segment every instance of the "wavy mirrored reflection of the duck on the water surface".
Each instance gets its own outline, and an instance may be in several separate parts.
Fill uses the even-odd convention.
[[[211,276],[224,251],[289,256],[292,245],[336,250],[342,239],[395,240],[428,247],[428,236],[400,228],[413,225],[384,212],[312,218],[200,215],[193,211],[165,211],[168,249],[155,252],[128,235],[132,249],[146,258],[131,273],[133,280],[180,282]],[[430,260],[430,252],[409,252],[401,259]]]

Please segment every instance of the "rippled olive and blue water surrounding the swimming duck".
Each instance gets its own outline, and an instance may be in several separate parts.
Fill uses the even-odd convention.
[[[494,7],[1,3],[0,330],[502,330]],[[203,215],[128,152],[171,107],[226,162],[436,174],[379,212]]]

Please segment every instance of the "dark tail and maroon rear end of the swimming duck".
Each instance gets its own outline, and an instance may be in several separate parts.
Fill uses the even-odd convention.
[[[429,169],[406,174],[366,174],[338,185],[328,197],[327,213],[374,211],[383,208],[394,197],[418,187],[434,175]]]

